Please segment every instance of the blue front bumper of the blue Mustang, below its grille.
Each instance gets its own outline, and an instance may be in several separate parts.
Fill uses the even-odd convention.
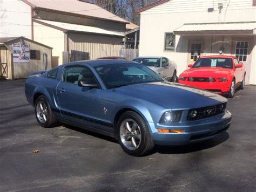
[[[229,111],[207,119],[184,122],[180,126],[160,126],[151,124],[152,139],[157,145],[187,145],[212,139],[231,125]],[[153,127],[152,127],[153,126]],[[153,129],[152,129],[153,128]],[[157,129],[184,129],[184,133],[159,133]]]

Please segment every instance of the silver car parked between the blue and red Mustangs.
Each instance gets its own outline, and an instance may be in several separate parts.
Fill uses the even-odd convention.
[[[177,82],[177,65],[166,57],[137,57],[132,61],[144,64],[158,73],[162,78]]]

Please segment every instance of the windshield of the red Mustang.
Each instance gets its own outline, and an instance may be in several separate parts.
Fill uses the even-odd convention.
[[[198,67],[233,68],[233,63],[231,58],[200,58],[192,66],[192,68]]]

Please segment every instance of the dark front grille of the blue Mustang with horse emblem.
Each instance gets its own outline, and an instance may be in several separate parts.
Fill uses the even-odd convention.
[[[204,119],[204,118],[209,118],[211,116],[218,115],[225,111],[226,105],[227,103],[225,102],[224,104],[219,104],[215,106],[190,109],[187,114],[187,120],[193,121],[193,120]],[[191,114],[194,113],[194,111],[197,112],[197,115],[192,117]]]

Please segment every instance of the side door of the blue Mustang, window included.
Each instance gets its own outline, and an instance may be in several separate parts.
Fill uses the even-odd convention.
[[[100,87],[81,87],[78,81],[89,78],[95,84],[97,80],[90,68],[71,65],[64,68],[62,79],[57,86],[57,97],[60,112],[65,120],[98,128],[97,116]]]

